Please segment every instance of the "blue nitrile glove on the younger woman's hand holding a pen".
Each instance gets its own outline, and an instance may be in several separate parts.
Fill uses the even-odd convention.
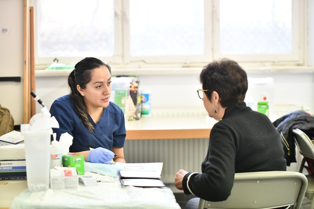
[[[113,164],[110,162],[115,154],[108,149],[98,147],[89,151],[88,160],[91,163]]]

